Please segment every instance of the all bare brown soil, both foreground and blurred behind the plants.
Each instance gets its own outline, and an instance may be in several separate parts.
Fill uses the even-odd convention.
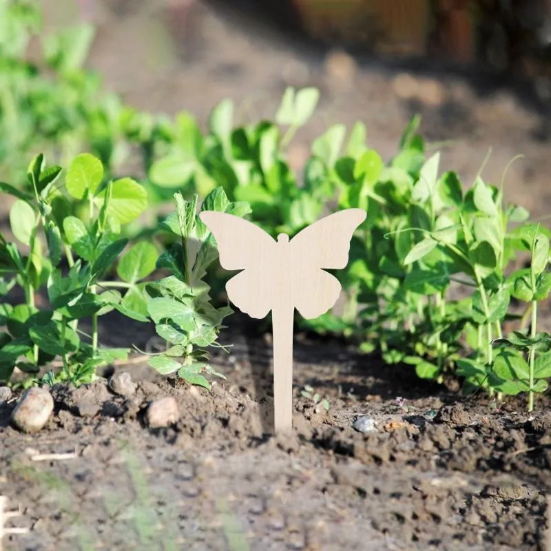
[[[63,11],[62,2],[46,4]],[[230,96],[240,118],[256,119],[275,112],[285,85],[319,85],[320,110],[290,151],[297,167],[333,122],[364,121],[370,143],[389,156],[408,116],[421,111],[428,139],[454,140],[442,162],[466,181],[490,146],[490,181],[525,154],[508,173],[507,196],[535,216],[548,212],[548,121],[531,96],[487,85],[489,77],[482,86],[457,72],[300,49],[260,20],[207,3],[191,3],[196,32],[178,36],[176,25],[161,39],[163,20],[147,3],[118,14],[110,4],[90,14],[99,25],[91,65],[133,105],[185,108],[204,121]],[[53,13],[50,24],[61,21]],[[550,319],[543,312],[542,323]],[[5,550],[236,551],[244,541],[259,551],[551,549],[548,395],[532,415],[524,398],[498,410],[453,380],[422,382],[351,344],[298,333],[294,429],[273,436],[269,335],[246,331],[237,316],[228,322],[221,342],[235,346],[213,351],[227,380],[211,393],[134,362],[114,368],[137,383],[129,399],[106,379],[54,387],[54,415],[38,435],[10,426],[17,395],[0,405],[0,495],[21,509],[6,527],[29,529],[6,535]],[[143,327],[107,318],[101,341],[143,349],[152,336]],[[305,385],[329,410],[301,395]],[[164,396],[177,400],[181,417],[149,429],[145,408]],[[363,415],[374,432],[352,428]],[[52,453],[60,455],[41,457]]]

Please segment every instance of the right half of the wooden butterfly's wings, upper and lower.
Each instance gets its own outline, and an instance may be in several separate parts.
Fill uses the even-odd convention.
[[[293,303],[304,318],[318,318],[337,302],[340,282],[323,269],[346,267],[353,233],[365,219],[362,209],[339,211],[306,227],[289,242]]]

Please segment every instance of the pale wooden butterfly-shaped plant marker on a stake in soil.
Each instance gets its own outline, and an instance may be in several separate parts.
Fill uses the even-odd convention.
[[[229,300],[251,318],[272,312],[275,432],[291,430],[295,308],[311,320],[335,305],[341,285],[323,269],[346,267],[350,241],[366,213],[336,212],[290,241],[285,233],[275,241],[263,229],[231,214],[203,211],[199,216],[216,240],[222,268],[242,270],[227,282]]]

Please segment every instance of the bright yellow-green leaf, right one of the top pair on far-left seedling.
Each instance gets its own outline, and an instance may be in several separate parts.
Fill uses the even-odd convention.
[[[94,198],[94,202],[100,208],[104,201],[105,189]],[[113,182],[112,195],[107,205],[107,216],[113,216],[121,224],[127,224],[138,218],[146,208],[147,191],[142,185],[132,178],[121,178]]]

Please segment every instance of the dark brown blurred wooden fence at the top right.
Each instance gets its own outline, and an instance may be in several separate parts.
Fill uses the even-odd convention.
[[[486,61],[503,69],[550,49],[551,0],[288,1],[310,37],[376,54]]]

